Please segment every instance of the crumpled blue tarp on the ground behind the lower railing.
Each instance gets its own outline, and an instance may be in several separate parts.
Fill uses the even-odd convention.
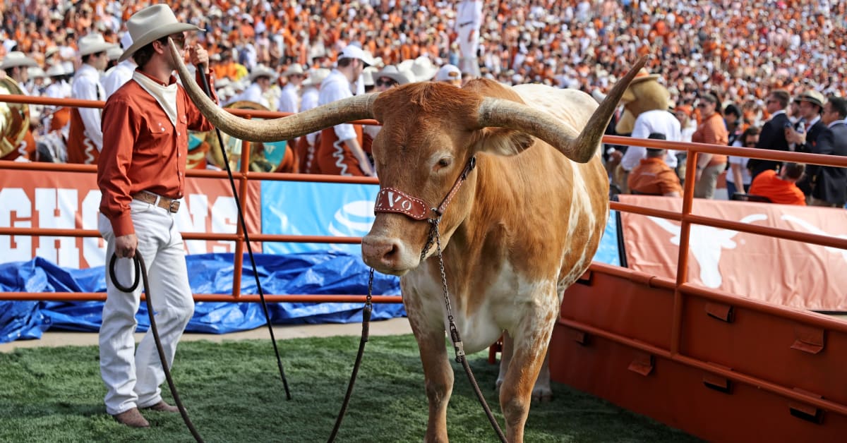
[[[265,294],[367,294],[368,267],[361,257],[343,252],[288,255],[257,254],[257,271]],[[229,294],[233,254],[186,256],[191,291]],[[241,293],[257,294],[248,257],[244,257]],[[0,264],[0,291],[105,292],[105,271],[63,269],[36,257],[29,262]],[[374,274],[374,295],[400,294],[399,280]],[[349,323],[362,321],[362,303],[268,303],[273,324]],[[0,342],[37,339],[47,329],[97,331],[102,302],[0,302]],[[374,303],[375,320],[406,315],[401,304]],[[147,330],[147,308],[136,315],[138,330]],[[262,306],[253,302],[198,302],[189,332],[225,334],[265,324]]]

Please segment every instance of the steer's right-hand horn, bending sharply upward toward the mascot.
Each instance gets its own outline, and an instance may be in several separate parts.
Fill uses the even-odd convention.
[[[479,105],[479,127],[496,126],[520,130],[550,143],[567,158],[586,163],[595,155],[597,145],[606,131],[606,126],[609,125],[609,120],[612,119],[617,102],[627,90],[629,82],[646,62],[647,56],[642,56],[634,67],[629,69],[627,75],[617,81],[579,135],[572,128],[562,125],[562,121],[552,114],[522,103],[491,97],[484,98]]]

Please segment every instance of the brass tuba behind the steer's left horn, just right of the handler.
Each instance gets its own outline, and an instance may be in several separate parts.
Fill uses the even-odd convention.
[[[250,109],[257,111],[269,111],[268,108],[257,102],[232,102],[224,108]],[[221,132],[224,141],[227,158],[230,160],[230,169],[237,171],[241,168],[241,143],[229,134]],[[224,169],[224,151],[218,142],[218,136],[214,130],[206,132],[189,132],[188,142],[188,168],[203,169],[207,163],[211,163]],[[285,141],[273,143],[251,143],[250,144],[250,170],[253,172],[275,172],[280,170],[280,165],[285,165],[286,158],[291,158],[291,149],[285,146]]]

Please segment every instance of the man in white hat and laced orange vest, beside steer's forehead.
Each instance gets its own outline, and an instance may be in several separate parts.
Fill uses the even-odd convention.
[[[367,66],[376,62],[361,47],[347,45],[335,69],[324,79],[318,95],[318,106],[352,97],[351,87]],[[321,143],[315,154],[319,174],[374,175],[363,150],[362,125],[335,125],[321,131]]]

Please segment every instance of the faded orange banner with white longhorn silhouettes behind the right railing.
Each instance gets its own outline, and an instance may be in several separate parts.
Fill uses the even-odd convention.
[[[618,196],[623,203],[681,212],[682,199]],[[847,211],[695,199],[692,213],[847,238]],[[675,278],[677,221],[621,213],[629,269]],[[847,251],[692,224],[689,281],[778,305],[847,311]]]

